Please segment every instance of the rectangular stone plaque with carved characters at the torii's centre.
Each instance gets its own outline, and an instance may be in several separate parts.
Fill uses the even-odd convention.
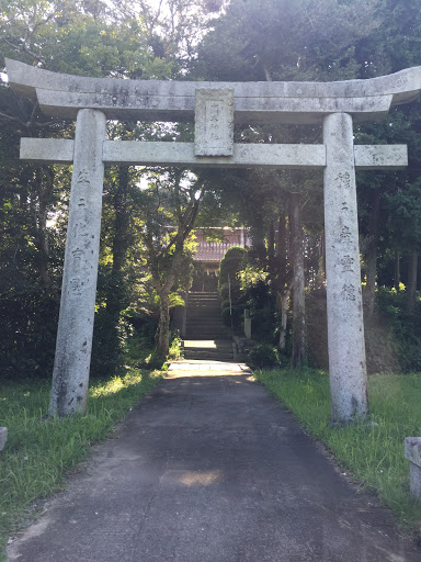
[[[195,156],[232,156],[234,90],[196,90]]]

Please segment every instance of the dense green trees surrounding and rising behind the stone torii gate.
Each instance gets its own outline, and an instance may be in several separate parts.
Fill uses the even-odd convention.
[[[420,65],[420,40],[419,0],[0,2],[0,66],[4,67],[8,56],[83,76],[229,81],[369,78]],[[2,373],[46,374],[54,353],[70,170],[19,161],[19,140],[21,136],[71,138],[75,124],[45,117],[36,102],[18,98],[5,76],[1,77]],[[421,247],[420,123],[416,102],[394,109],[383,123],[355,127],[356,143],[408,144],[410,157],[405,171],[359,175],[368,313],[375,307],[376,288],[400,290],[400,281],[407,288],[409,313],[416,303]],[[192,127],[110,123],[107,135],[111,139],[190,139]],[[319,143],[321,131],[242,125],[236,126],[235,137],[240,143]],[[181,183],[182,177],[190,178],[190,183]],[[282,317],[276,338],[284,347],[294,276],[304,268],[308,288],[323,284],[321,202],[318,173],[254,169],[203,177],[189,170],[109,168],[94,370],[102,374],[118,364],[124,322],[143,302],[151,302],[150,291],[157,292],[161,318],[166,317],[160,348],[164,355],[168,314],[162,306],[168,311],[167,296],[189,284],[179,282],[178,270],[183,262],[181,269],[186,271],[183,260],[191,260],[184,241],[194,224],[250,227],[251,261],[265,272],[277,302]],[[300,244],[295,246],[292,228],[300,233]],[[139,282],[149,274],[147,262],[153,277],[149,285]]]

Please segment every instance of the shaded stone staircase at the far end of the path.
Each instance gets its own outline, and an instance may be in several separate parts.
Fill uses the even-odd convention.
[[[184,358],[232,361],[232,338],[220,316],[218,293],[189,293]]]

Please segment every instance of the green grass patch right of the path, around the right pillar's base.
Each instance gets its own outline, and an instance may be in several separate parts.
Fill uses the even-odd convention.
[[[326,372],[258,371],[257,379],[291,409],[311,435],[366,486],[375,490],[407,528],[421,525],[421,504],[409,495],[403,441],[421,435],[421,373],[377,374],[368,379],[371,420],[377,425],[332,428]]]

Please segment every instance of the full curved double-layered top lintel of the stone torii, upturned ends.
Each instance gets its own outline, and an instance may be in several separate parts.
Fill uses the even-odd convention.
[[[75,119],[92,108],[109,119],[193,121],[195,90],[232,90],[238,123],[320,123],[346,112],[357,121],[378,120],[390,104],[413,101],[421,67],[368,80],[342,82],[179,82],[59,75],[7,59],[10,86],[37,95],[45,114]]]

